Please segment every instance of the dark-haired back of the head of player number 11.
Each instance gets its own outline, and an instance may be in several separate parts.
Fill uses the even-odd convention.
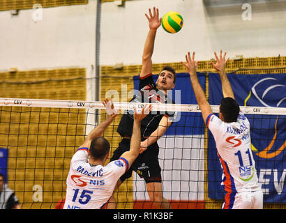
[[[223,98],[220,101],[220,112],[226,123],[236,122],[239,117],[239,104],[233,98]]]

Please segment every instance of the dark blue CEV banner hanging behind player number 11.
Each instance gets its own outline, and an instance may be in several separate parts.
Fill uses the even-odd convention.
[[[240,106],[286,107],[286,74],[228,75]],[[209,74],[209,102],[220,105],[223,98],[220,77]],[[253,112],[259,112],[255,108]],[[250,121],[253,157],[264,202],[286,202],[286,115],[246,114]],[[222,171],[216,143],[208,133],[209,197],[223,199]]]

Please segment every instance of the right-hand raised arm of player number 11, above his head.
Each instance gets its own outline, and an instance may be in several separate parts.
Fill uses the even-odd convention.
[[[220,80],[223,88],[223,98],[229,97],[235,100],[234,92],[232,91],[232,86],[230,85],[229,80],[227,78],[227,73],[225,72],[225,64],[229,60],[229,58],[225,59],[227,53],[225,52],[225,54],[223,54],[223,52],[220,50],[220,57],[218,57],[216,52],[214,52],[214,54],[216,56],[216,64],[211,62],[211,65],[213,66],[213,68],[216,69],[216,71],[218,71],[218,74],[220,75]]]

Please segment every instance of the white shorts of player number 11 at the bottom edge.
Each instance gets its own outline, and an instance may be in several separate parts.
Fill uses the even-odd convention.
[[[263,192],[257,190],[227,193],[223,209],[263,209]]]

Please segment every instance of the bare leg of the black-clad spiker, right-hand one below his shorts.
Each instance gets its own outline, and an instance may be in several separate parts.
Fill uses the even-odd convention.
[[[170,202],[163,197],[162,183],[150,182],[146,183],[146,188],[152,203],[151,208],[156,209],[170,209]]]

